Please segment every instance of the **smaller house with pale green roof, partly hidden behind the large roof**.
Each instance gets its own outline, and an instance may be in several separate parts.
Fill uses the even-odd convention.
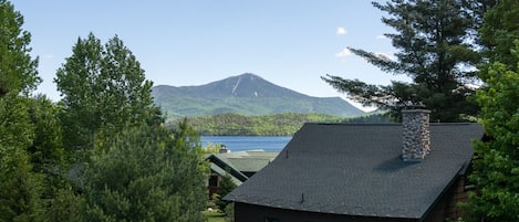
[[[218,191],[221,177],[228,175],[236,186],[240,186],[269,165],[278,155],[279,151],[262,149],[209,155],[206,158],[210,162],[211,172],[208,180],[209,198]]]

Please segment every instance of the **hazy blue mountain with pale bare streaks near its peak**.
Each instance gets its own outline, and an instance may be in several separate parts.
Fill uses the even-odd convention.
[[[280,113],[364,114],[340,97],[308,96],[249,73],[200,86],[158,85],[153,87],[152,95],[168,119],[224,113],[246,116]]]

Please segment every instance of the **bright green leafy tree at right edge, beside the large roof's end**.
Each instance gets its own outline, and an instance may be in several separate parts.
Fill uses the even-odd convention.
[[[519,40],[515,49],[519,60]],[[465,205],[467,221],[519,220],[519,73],[507,66],[496,62],[480,74],[486,83],[477,94],[480,121],[491,139],[475,142],[470,180],[478,193],[470,193],[470,203]]]

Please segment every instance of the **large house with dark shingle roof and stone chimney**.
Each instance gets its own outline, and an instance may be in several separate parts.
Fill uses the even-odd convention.
[[[237,222],[439,222],[458,216],[477,124],[305,124],[231,193]]]

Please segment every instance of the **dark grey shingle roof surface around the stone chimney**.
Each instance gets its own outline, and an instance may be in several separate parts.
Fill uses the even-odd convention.
[[[305,124],[225,199],[291,210],[422,219],[473,156],[477,124],[432,124],[432,152],[403,161],[402,125]]]

